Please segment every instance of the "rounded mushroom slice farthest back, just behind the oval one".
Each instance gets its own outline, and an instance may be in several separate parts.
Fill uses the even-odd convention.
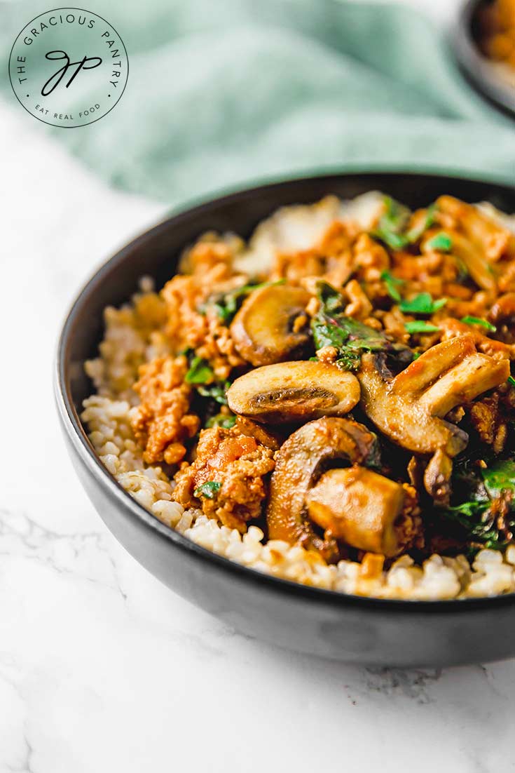
[[[254,366],[292,359],[309,340],[303,288],[272,284],[249,295],[235,315],[231,337],[239,354]]]

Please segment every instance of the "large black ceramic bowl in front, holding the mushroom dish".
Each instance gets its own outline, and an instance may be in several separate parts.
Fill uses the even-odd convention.
[[[418,207],[449,193],[515,211],[515,189],[412,173],[338,174],[232,193],[171,216],[120,250],[86,284],[66,319],[57,359],[59,417],[76,471],[100,516],[144,567],[178,594],[246,635],[317,656],[381,666],[444,666],[515,654],[515,594],[464,601],[381,601],[267,577],[198,547],[131,499],[101,465],[80,422],[92,385],[102,312],[137,289],[141,274],[171,277],[181,249],[205,230],[246,237],[284,204],[371,189]]]

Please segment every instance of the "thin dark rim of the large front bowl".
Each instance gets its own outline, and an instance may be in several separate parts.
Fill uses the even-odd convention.
[[[345,165],[341,170],[337,170],[332,166],[330,168],[319,168],[308,175],[292,175],[275,178],[268,177],[256,181],[256,183],[252,184],[252,187],[228,186],[225,189],[220,190],[219,193],[213,192],[207,196],[199,196],[195,199],[190,199],[188,202],[182,203],[174,209],[171,209],[167,215],[164,216],[162,220],[159,220],[158,223],[154,224],[154,226],[150,226],[144,230],[143,233],[140,233],[127,243],[124,243],[123,247],[120,247],[120,249],[114,252],[107,261],[104,261],[97,270],[93,271],[93,274],[90,274],[90,277],[76,294],[76,297],[73,299],[73,302],[66,312],[64,322],[60,326],[54,360],[54,395],[59,417],[69,441],[73,444],[73,448],[79,454],[83,464],[86,465],[86,468],[91,475],[93,475],[93,478],[95,478],[104,489],[107,489],[114,499],[117,499],[117,502],[119,502],[122,509],[124,509],[125,512],[128,512],[131,518],[137,518],[147,529],[156,533],[161,539],[167,540],[174,548],[185,551],[185,553],[189,553],[192,557],[196,557],[197,559],[207,560],[221,571],[229,572],[229,574],[233,575],[235,581],[240,580],[245,581],[247,584],[259,584],[263,587],[263,590],[268,588],[269,592],[276,591],[290,597],[309,598],[313,599],[313,601],[318,601],[319,604],[330,604],[338,608],[357,606],[376,610],[388,609],[392,612],[395,611],[401,613],[423,610],[429,614],[456,614],[477,609],[493,608],[497,606],[504,607],[507,604],[515,604],[515,592],[477,598],[434,600],[377,598],[374,596],[348,594],[327,588],[313,587],[296,581],[286,580],[282,577],[276,577],[272,574],[266,574],[253,569],[252,567],[246,567],[243,564],[239,564],[235,560],[226,558],[218,553],[214,553],[212,550],[208,550],[208,548],[202,547],[192,540],[189,540],[188,537],[178,533],[171,526],[166,526],[157,516],[154,516],[153,513],[130,496],[129,492],[117,482],[114,475],[111,475],[100,461],[100,458],[93,449],[90,439],[87,437],[86,429],[83,426],[82,421],[80,421],[80,415],[71,399],[71,390],[69,390],[67,379],[68,363],[66,352],[69,342],[72,339],[75,318],[83,305],[87,304],[88,298],[93,295],[97,286],[101,284],[104,275],[109,273],[111,267],[114,265],[123,263],[127,253],[134,250],[135,247],[143,244],[149,237],[153,237],[161,231],[168,230],[172,224],[180,223],[181,220],[190,219],[192,216],[204,212],[205,209],[209,209],[215,204],[229,204],[232,201],[239,201],[246,197],[256,196],[257,193],[264,192],[266,189],[287,186],[292,182],[309,184],[309,182],[313,182],[313,180],[320,178],[341,179],[342,177],[366,177],[368,175],[374,176],[379,174],[399,176],[425,175],[433,178],[441,177],[442,179],[453,178],[456,179],[456,181],[462,182],[492,184],[505,189],[511,189],[515,192],[515,186],[509,186],[507,182],[502,178],[500,179],[499,176],[481,175],[479,177],[473,173],[463,172],[462,170],[446,169],[444,171],[438,168],[427,169],[415,166],[410,166],[409,169],[403,169],[399,168],[398,165],[389,167],[388,165],[382,164],[377,167],[374,165],[367,165],[366,168],[363,168],[362,166]],[[117,539],[116,536],[115,539]]]

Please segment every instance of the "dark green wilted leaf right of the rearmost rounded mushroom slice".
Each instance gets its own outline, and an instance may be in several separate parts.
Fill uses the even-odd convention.
[[[411,362],[411,349],[394,344],[384,333],[347,317],[344,314],[344,299],[330,284],[318,282],[317,295],[320,309],[311,321],[315,347],[336,347],[336,364],[342,370],[357,370],[363,352],[387,352]]]

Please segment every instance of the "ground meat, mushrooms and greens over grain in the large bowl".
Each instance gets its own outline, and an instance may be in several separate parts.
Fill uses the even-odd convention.
[[[515,590],[513,219],[371,192],[207,233],[105,311],[83,421],[163,523],[379,598]]]

